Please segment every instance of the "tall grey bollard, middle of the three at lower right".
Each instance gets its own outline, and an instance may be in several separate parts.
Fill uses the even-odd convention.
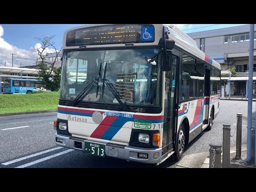
[[[222,168],[230,168],[230,126],[223,125]]]

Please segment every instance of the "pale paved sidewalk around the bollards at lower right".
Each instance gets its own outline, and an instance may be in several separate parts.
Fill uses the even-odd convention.
[[[246,163],[246,145],[242,146],[242,159],[235,160],[236,147],[230,148],[230,168],[256,168],[252,163]],[[210,148],[210,147],[209,147]],[[206,151],[198,154],[186,155],[181,159],[175,168],[209,168],[210,152]]]

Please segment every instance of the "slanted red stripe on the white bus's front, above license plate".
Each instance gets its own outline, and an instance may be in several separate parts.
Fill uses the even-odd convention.
[[[91,134],[91,137],[100,139],[116,119],[117,119],[116,116],[105,117],[105,119],[103,119],[100,125],[93,131],[93,133]]]

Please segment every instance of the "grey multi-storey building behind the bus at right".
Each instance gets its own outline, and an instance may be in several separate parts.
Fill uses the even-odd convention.
[[[254,26],[254,49],[256,49],[256,25]],[[250,25],[214,29],[188,33],[199,49],[221,64],[221,69],[236,69],[236,77],[231,77],[231,96],[247,93],[249,65]],[[253,98],[256,98],[256,51],[253,60]],[[226,92],[229,94],[228,86]]]

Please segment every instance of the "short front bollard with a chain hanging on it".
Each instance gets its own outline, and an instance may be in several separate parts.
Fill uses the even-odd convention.
[[[211,143],[210,144],[210,162],[209,168],[220,168],[221,167],[221,145]]]

